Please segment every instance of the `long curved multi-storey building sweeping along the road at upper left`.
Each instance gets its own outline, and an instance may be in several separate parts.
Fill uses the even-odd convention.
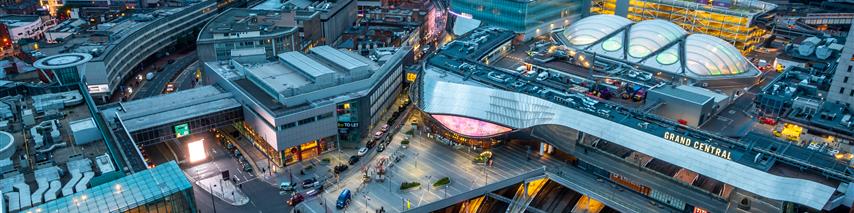
[[[140,71],[143,60],[167,53],[167,47],[175,44],[178,38],[195,39],[191,37],[192,32],[202,28],[219,9],[238,3],[218,5],[216,1],[204,1],[139,12],[99,23],[56,44],[40,43],[32,51],[40,56],[68,52],[91,54],[92,60],[85,65],[88,72],[84,80],[89,93],[99,103],[104,103],[113,94],[125,93],[120,91],[122,83]]]

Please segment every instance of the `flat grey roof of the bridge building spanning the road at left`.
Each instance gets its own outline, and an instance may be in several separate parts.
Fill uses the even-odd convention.
[[[118,112],[127,131],[134,132],[240,106],[233,94],[215,86],[203,86],[124,102],[102,112],[108,121],[113,121]]]

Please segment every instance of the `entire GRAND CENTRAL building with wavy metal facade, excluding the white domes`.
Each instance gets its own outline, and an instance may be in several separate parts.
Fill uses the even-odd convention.
[[[854,180],[851,168],[826,153],[758,132],[727,138],[592,98],[567,90],[575,81],[569,78],[577,76],[562,70],[537,79],[483,63],[510,51],[512,38],[507,30],[479,28],[428,59],[410,92],[426,131],[483,148],[533,139],[541,154],[568,155],[574,169],[682,211],[723,212],[727,205],[751,204],[755,211],[829,210],[852,204],[854,195],[846,193]],[[626,205],[615,199],[604,203],[636,211],[619,209]]]

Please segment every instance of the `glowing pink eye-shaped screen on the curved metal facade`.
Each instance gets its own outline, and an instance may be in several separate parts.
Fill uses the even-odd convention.
[[[511,129],[498,124],[453,115],[433,115],[439,123],[459,134],[484,137],[509,132]]]

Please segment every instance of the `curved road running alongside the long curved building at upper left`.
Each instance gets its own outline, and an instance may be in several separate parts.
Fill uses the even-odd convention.
[[[131,99],[142,99],[151,96],[157,96],[163,93],[166,83],[171,82],[182,71],[185,71],[190,64],[198,60],[196,52],[187,53],[175,59],[174,63],[164,65],[163,71],[155,73],[154,79],[145,82],[137,91],[132,94]]]

